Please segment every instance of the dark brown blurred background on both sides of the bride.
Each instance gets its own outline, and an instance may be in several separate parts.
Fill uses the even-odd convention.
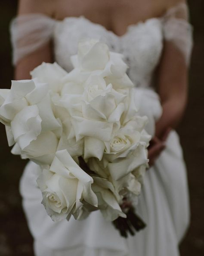
[[[16,0],[0,1],[0,88],[10,88],[13,78],[9,22]],[[194,26],[194,50],[189,74],[189,104],[178,132],[188,167],[191,225],[181,256],[204,256],[204,0],[189,0]],[[19,178],[26,164],[13,156],[0,125],[0,256],[33,256],[32,237],[22,212]]]

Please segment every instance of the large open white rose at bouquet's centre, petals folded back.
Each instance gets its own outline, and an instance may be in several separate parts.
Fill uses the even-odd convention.
[[[111,139],[114,123],[119,125],[124,112],[123,100],[126,94],[106,86],[99,76],[90,76],[84,84],[81,94],[64,94],[61,102],[68,109],[76,140],[86,137],[84,157],[97,157],[101,160],[104,152],[104,141]]]

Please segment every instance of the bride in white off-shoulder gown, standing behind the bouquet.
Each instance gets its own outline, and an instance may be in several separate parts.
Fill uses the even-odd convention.
[[[99,38],[124,54],[135,86],[152,94],[151,103],[143,103],[144,114],[150,123],[157,120],[148,150],[151,168],[137,207],[147,227],[134,237],[121,237],[99,211],[84,221],[53,222],[40,204],[37,165],[28,163],[20,190],[36,256],[179,255],[189,198],[173,129],[186,105],[191,31],[184,0],[19,1],[11,26],[16,80],[30,79],[29,72],[43,61],[56,61],[70,71],[80,38]]]

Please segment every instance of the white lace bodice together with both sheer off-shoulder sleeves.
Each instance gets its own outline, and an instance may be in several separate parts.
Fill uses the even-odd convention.
[[[184,54],[186,63],[189,62],[192,29],[187,19],[187,6],[182,3],[161,18],[151,18],[128,26],[124,35],[117,36],[83,16],[67,17],[63,21],[42,14],[20,16],[13,21],[11,27],[14,64],[53,38],[56,62],[70,71],[73,68],[70,57],[77,53],[79,40],[97,38],[105,41],[111,51],[124,54],[124,61],[129,66],[128,75],[136,86],[151,86],[152,74],[161,57],[164,40],[172,41]],[[28,22],[32,24],[31,31],[26,30]]]

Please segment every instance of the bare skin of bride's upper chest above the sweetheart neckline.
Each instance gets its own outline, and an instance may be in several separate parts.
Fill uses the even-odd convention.
[[[124,35],[130,25],[160,17],[164,13],[164,8],[161,5],[156,5],[155,1],[150,0],[143,0],[142,2],[141,0],[113,0],[111,3],[106,3],[107,0],[102,2],[93,0],[73,1],[61,0],[61,4],[56,6],[54,18],[63,20],[66,17],[84,16],[91,22],[100,24],[119,36]],[[71,3],[73,3],[72,6]]]

